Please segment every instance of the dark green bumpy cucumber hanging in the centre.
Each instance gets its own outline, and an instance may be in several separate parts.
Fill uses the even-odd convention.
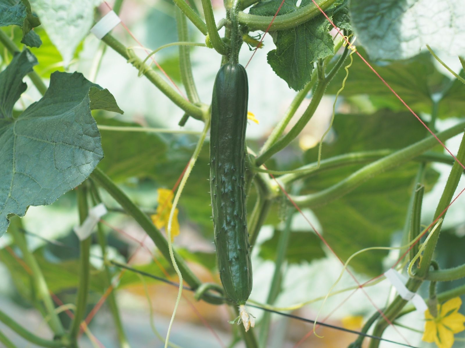
[[[248,83],[240,64],[221,66],[213,86],[210,188],[219,275],[239,305],[252,290],[252,263],[244,191]]]

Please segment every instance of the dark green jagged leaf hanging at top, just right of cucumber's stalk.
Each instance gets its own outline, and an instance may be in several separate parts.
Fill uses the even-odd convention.
[[[297,11],[299,7],[311,4],[311,0],[286,0],[279,15]],[[331,15],[341,1],[328,8]],[[262,1],[250,9],[250,13],[262,16],[273,16],[281,4],[280,1]],[[334,54],[334,44],[328,32],[331,24],[323,15],[318,15],[291,29],[271,33],[276,50],[268,53],[268,63],[276,74],[284,79],[290,88],[298,91],[312,79],[313,63],[318,59]]]

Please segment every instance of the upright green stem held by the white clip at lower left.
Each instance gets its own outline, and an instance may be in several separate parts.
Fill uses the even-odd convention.
[[[82,184],[77,190],[79,222],[84,223],[89,213],[89,205],[87,203],[87,187],[86,183]],[[70,339],[73,345],[77,347],[77,339],[80,332],[80,325],[84,319],[87,308],[87,297],[89,295],[90,285],[90,246],[92,237],[88,236],[79,243],[79,288],[76,300],[76,310],[74,311],[73,322],[71,323]]]

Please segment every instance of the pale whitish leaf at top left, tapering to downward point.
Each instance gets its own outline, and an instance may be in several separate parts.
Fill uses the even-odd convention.
[[[65,65],[73,59],[80,41],[89,33],[94,20],[94,8],[100,0],[31,0],[48,36],[58,48]]]

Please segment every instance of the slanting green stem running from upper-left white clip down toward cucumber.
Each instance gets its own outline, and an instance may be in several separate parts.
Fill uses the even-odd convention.
[[[159,74],[154,70],[150,69],[146,65],[142,64],[142,60],[137,57],[132,50],[129,50],[120,41],[115,39],[111,34],[106,34],[102,41],[108,46],[113,48],[123,58],[128,60],[134,67],[143,71],[144,76],[153,83],[161,92],[163,92],[168,98],[170,98],[174,104],[178,105],[182,110],[193,118],[202,119],[204,111],[199,106],[193,105],[189,100],[183,98],[178,92],[176,92],[168,83],[162,79]]]

